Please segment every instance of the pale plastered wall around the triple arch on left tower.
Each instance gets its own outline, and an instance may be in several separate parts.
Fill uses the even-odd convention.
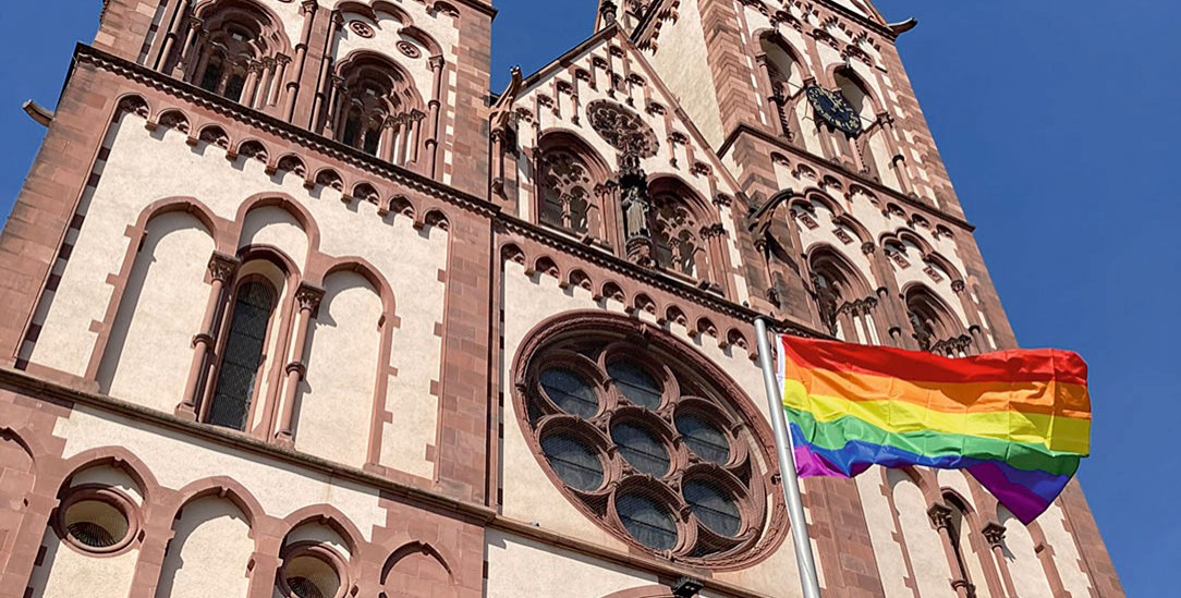
[[[183,134],[163,128],[148,132],[144,121],[133,115],[113,125],[111,154],[102,167],[102,181],[85,210],[85,225],[60,287],[47,308],[44,330],[31,360],[78,376],[85,373],[97,338],[91,332],[91,323],[104,319],[113,290],[107,279],[119,272],[128,252],[129,239],[124,230],[137,221],[148,204],[167,197],[191,196],[217,216],[233,220],[248,197],[267,191],[283,193],[305,206],[318,223],[322,253],[364,258],[390,281],[397,316],[405,317],[393,334],[389,365],[399,373],[390,377],[387,405],[396,415],[393,423],[383,428],[384,437],[390,441],[383,446],[381,464],[413,475],[431,476],[433,463],[426,460],[426,447],[435,443],[438,404],[430,391],[441,368],[442,339],[436,336],[435,327],[443,320],[445,282],[441,280],[439,272],[446,269],[448,233],[438,228],[416,230],[404,216],[383,219],[377,214],[377,206],[367,202],[346,207],[340,201],[339,191],[322,187],[309,191],[298,176],[282,173],[268,176],[259,161],[239,158],[231,163],[220,148],[204,143],[190,148],[184,138]],[[174,165],[167,177],[158,176],[156,171],[155,165],[161,162]],[[280,216],[276,209],[263,208],[259,215],[252,213],[248,220],[248,238],[273,242],[295,255],[306,253],[308,241],[300,239],[289,215]],[[200,243],[194,235],[185,239],[184,251],[194,252],[189,255],[191,261],[183,267],[158,268],[158,280],[167,290],[162,291],[164,297],[161,301],[174,310],[165,317],[176,320],[162,329],[171,331],[175,326],[176,330],[169,332],[167,338],[156,339],[161,343],[177,344],[183,339],[183,344],[188,345],[200,329],[201,316],[197,311],[204,308],[208,299],[208,285],[197,285],[194,280],[203,280],[210,252],[208,247],[201,247],[198,252],[196,245]],[[152,287],[156,288],[155,281]],[[194,294],[178,297],[182,291],[189,292],[185,290],[191,290]],[[150,313],[154,316],[143,317],[161,317],[155,308]],[[139,317],[137,313],[136,319]],[[132,320],[132,330],[137,326]],[[154,389],[169,390],[151,396],[128,391],[131,395],[120,398],[171,411],[181,397],[168,392],[178,392],[172,389],[184,388],[190,349],[181,347],[174,352],[159,351],[156,345],[135,345],[133,349],[139,351],[139,357],[126,360],[132,364],[130,371],[133,372],[128,379],[150,375]],[[145,362],[142,356],[146,351],[181,357],[175,359],[176,363],[156,358]],[[149,364],[151,372],[146,371]],[[354,366],[347,362],[337,365],[346,370]],[[364,368],[371,379],[376,377],[376,366],[355,366]],[[372,404],[372,388],[363,401]]]

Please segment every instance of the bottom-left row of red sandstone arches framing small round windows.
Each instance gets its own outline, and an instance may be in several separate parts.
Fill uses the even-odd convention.
[[[20,447],[27,455],[22,440],[8,430],[0,448]],[[471,593],[454,568],[459,563],[455,547],[441,544],[442,534],[407,538],[381,526],[363,534],[326,503],[276,516],[227,476],[169,488],[122,447],[70,459],[27,457],[25,469],[32,480],[27,500],[35,498],[39,507],[20,515],[14,533],[43,546],[27,564],[32,576],[26,596],[65,594],[70,584],[87,576],[102,577],[87,583],[124,587],[130,596]],[[426,529],[437,525],[424,524]]]

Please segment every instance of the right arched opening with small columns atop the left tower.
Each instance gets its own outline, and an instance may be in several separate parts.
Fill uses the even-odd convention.
[[[337,74],[329,118],[335,138],[394,164],[417,161],[426,113],[410,76],[367,52],[345,59]]]

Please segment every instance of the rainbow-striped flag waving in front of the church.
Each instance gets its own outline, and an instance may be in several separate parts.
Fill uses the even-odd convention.
[[[1069,351],[948,359],[789,336],[779,349],[802,477],[966,469],[1029,524],[1090,454],[1087,364]]]

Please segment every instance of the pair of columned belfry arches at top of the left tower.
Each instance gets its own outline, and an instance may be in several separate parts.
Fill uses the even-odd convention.
[[[445,2],[436,12],[458,14]],[[177,78],[246,108],[291,121],[304,84],[306,38],[317,12],[305,2],[304,41],[292,47],[281,19],[255,0],[196,2],[187,32],[169,32],[169,43],[157,64]],[[433,174],[438,161],[442,80],[446,63],[443,48],[394,4],[372,6],[342,2],[333,11],[331,35],[338,47],[342,35],[365,37],[380,15],[399,24],[398,52],[357,48],[347,56],[329,56],[319,73],[313,108],[314,132],[420,174]],[[178,19],[180,21],[181,19]],[[355,25],[346,27],[348,25]],[[374,24],[374,25],[370,25]],[[393,51],[394,48],[390,48]],[[344,52],[341,50],[341,52]],[[429,54],[420,59],[422,54]],[[403,63],[411,64],[403,64]],[[422,64],[419,64],[422,63]],[[424,96],[407,69],[428,69],[433,78]]]

